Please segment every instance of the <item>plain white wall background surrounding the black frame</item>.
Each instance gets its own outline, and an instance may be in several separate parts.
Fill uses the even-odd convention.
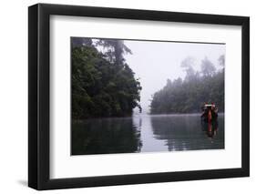
[[[256,114],[256,12],[254,1],[170,0],[41,0],[40,3],[112,6],[165,11],[251,16],[251,121]],[[0,192],[36,193],[27,179],[27,6],[34,0],[1,2],[0,9]],[[251,178],[215,179],[91,189],[51,190],[46,193],[253,193],[256,189],[256,124],[251,122]]]

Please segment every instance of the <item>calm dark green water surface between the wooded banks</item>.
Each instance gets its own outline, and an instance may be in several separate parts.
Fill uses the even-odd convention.
[[[199,114],[134,115],[72,123],[72,155],[224,148],[224,115],[207,124]]]

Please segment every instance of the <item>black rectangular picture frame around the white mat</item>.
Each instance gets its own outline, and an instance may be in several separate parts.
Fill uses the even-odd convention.
[[[241,26],[241,168],[205,169],[87,178],[50,179],[49,111],[50,15],[166,21]],[[250,18],[78,5],[37,4],[28,7],[28,186],[69,189],[179,180],[224,179],[250,176]]]

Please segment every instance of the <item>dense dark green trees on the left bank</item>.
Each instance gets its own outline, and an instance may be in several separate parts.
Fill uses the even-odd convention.
[[[75,37],[71,43],[72,118],[130,116],[141,87],[123,58],[124,43]]]

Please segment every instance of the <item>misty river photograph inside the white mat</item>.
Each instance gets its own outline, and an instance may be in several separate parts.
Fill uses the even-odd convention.
[[[224,148],[225,44],[70,40],[71,155]]]

